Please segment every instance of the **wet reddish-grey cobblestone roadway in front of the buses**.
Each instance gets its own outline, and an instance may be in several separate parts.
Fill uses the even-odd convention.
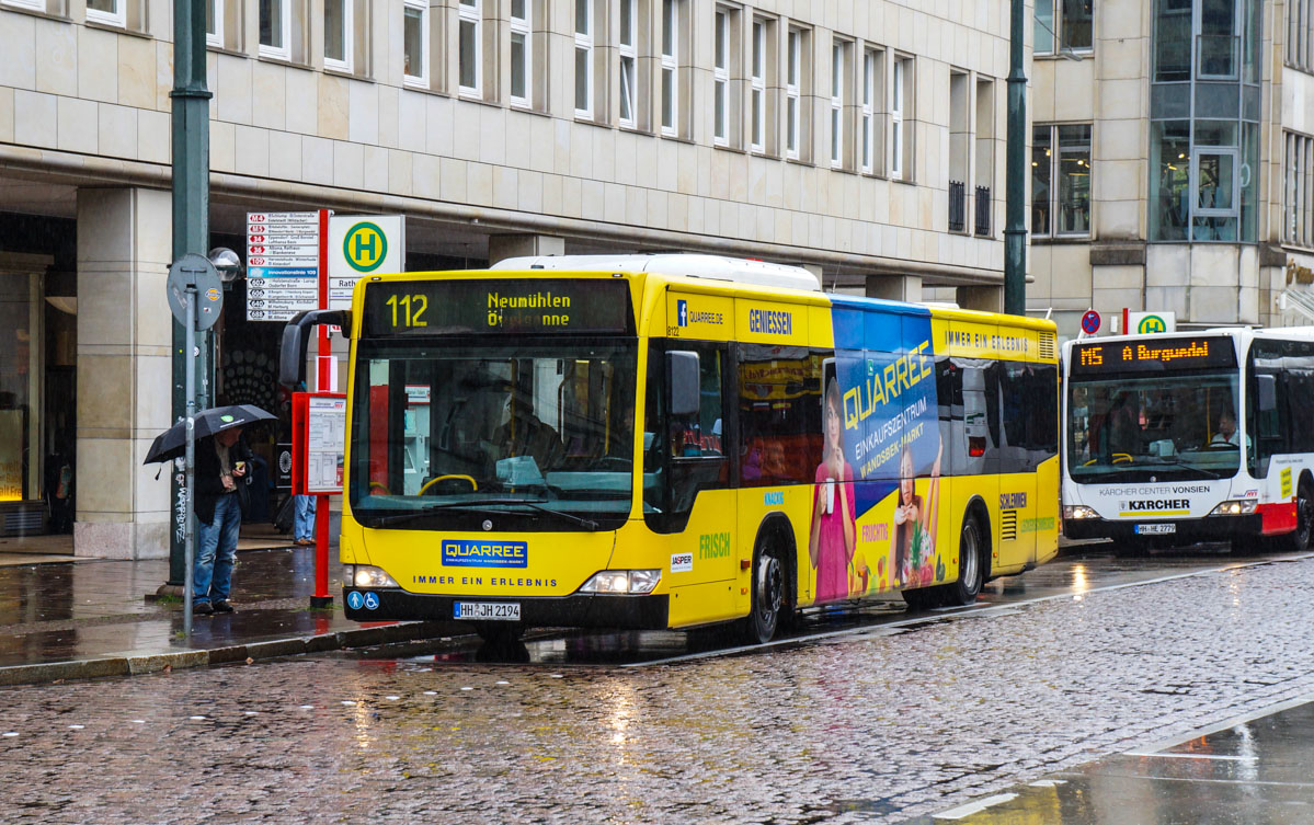
[[[637,669],[0,690],[5,822],[897,822],[1314,691],[1314,560]]]

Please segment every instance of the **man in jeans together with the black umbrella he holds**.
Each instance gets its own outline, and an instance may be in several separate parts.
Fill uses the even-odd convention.
[[[242,428],[275,418],[251,405],[231,405],[198,412],[193,422],[196,439],[196,491],[193,507],[197,552],[192,566],[192,612],[200,616],[231,613],[229,595],[237,561],[238,531],[248,495],[247,468],[251,449],[242,440]],[[187,448],[187,423],[179,422],[160,434],[146,455],[146,462],[175,458]]]

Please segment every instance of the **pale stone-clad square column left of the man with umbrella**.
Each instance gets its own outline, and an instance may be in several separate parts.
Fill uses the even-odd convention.
[[[78,190],[78,556],[168,556],[167,469],[142,460],[172,423],[171,215],[167,190]]]

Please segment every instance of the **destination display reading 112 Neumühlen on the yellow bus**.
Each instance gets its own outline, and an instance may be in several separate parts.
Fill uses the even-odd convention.
[[[623,280],[413,280],[365,288],[364,334],[629,332],[631,318]]]

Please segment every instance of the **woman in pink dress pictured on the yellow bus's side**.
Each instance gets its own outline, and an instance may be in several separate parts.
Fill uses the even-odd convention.
[[[817,602],[849,598],[849,565],[857,541],[854,527],[853,468],[844,457],[844,424],[840,384],[832,377],[825,388],[821,432],[825,447],[816,472],[812,497],[812,531],[808,558],[816,570]]]

